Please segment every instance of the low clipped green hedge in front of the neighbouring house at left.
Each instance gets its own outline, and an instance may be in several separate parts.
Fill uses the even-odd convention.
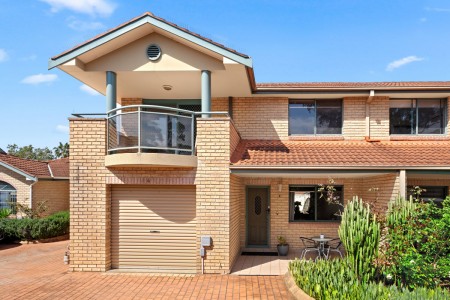
[[[38,240],[69,233],[69,212],[57,212],[42,219],[3,219],[0,231],[9,240]]]

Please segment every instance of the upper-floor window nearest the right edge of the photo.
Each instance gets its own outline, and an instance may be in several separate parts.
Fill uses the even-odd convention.
[[[445,133],[444,99],[399,99],[389,104],[391,134]]]

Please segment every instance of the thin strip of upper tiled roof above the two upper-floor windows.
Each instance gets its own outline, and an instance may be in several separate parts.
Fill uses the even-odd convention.
[[[267,82],[257,83],[257,88],[450,88],[450,81],[400,81],[400,82]]]

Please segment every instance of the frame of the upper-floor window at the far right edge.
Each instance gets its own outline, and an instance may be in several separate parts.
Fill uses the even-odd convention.
[[[405,101],[409,100],[411,102],[410,109],[411,111],[414,109],[415,113],[415,127],[414,127],[414,133],[392,133],[392,127],[391,127],[391,102],[392,101]],[[442,107],[442,132],[441,133],[419,133],[419,103],[421,101],[428,101],[428,100],[439,100],[440,103],[443,103]],[[414,107],[414,101],[415,101],[415,107]],[[446,98],[391,98],[389,99],[389,135],[393,136],[442,136],[447,134],[447,111],[448,111],[448,101]],[[411,130],[413,127],[411,127]]]

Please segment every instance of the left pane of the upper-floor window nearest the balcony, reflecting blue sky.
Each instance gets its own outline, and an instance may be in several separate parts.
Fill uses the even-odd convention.
[[[314,100],[292,100],[289,102],[290,134],[314,134],[315,119]]]

